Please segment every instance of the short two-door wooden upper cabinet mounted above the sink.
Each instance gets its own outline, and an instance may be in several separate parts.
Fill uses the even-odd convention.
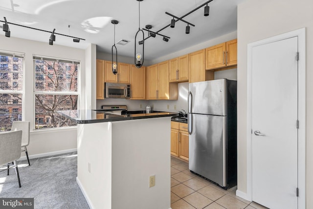
[[[188,81],[188,54],[169,60],[170,82]]]

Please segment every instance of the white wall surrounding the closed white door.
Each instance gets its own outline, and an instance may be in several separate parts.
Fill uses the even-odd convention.
[[[246,193],[247,44],[306,27],[306,208],[313,208],[313,1],[247,0],[238,6],[238,190]],[[301,59],[301,54],[299,55]],[[270,75],[268,75],[270,76]],[[270,189],[270,188],[269,188]]]

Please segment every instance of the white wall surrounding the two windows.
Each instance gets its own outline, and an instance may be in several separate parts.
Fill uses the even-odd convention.
[[[71,40],[69,40],[71,41]],[[25,53],[25,71],[23,89],[25,91],[23,99],[23,120],[31,121],[31,133],[30,143],[27,147],[28,154],[32,157],[40,157],[43,153],[62,153],[67,150],[73,150],[77,148],[77,131],[76,127],[66,129],[54,129],[54,130],[36,130],[32,131],[34,127],[34,106],[35,103],[33,89],[34,89],[34,67],[33,67],[33,54],[79,60],[81,64],[80,76],[81,76],[81,89],[84,90],[85,82],[85,50],[72,48],[67,46],[58,46],[57,42],[53,46],[47,43],[29,41],[25,39],[19,39],[14,37],[5,37],[0,35],[0,50],[7,50],[12,52]],[[90,50],[91,51],[91,50]],[[90,58],[91,59],[91,58]],[[94,57],[95,60],[95,57]],[[89,68],[90,69],[90,68]],[[90,83],[90,81],[88,81]],[[87,82],[87,83],[88,83]],[[95,85],[95,84],[94,84]],[[90,91],[90,88],[89,90]],[[90,93],[86,93],[90,94]],[[85,107],[85,91],[82,93],[78,108]],[[22,154],[24,155],[24,154]]]

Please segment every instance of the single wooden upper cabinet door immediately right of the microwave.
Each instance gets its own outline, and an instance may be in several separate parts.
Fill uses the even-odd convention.
[[[131,99],[146,99],[146,69],[131,66]]]

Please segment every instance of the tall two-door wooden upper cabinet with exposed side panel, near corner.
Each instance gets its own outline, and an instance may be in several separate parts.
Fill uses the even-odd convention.
[[[147,82],[147,99],[177,99],[177,83],[169,82],[169,61],[149,66]]]

